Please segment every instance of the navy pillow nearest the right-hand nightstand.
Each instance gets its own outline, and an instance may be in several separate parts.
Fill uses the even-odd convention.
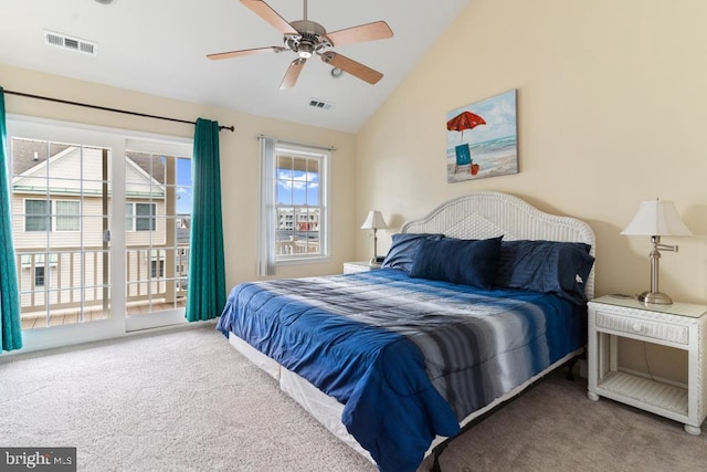
[[[583,304],[584,284],[594,264],[590,249],[582,242],[504,241],[494,285],[552,293]]]

